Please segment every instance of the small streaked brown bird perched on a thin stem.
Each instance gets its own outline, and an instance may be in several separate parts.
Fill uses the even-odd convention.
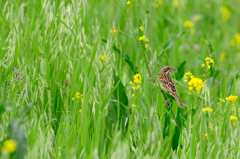
[[[164,66],[158,73],[157,77],[158,85],[175,98],[179,107],[184,108],[182,102],[180,101],[177,95],[177,90],[174,85],[174,82],[170,77],[170,73],[174,70],[175,69],[172,68],[171,66]]]

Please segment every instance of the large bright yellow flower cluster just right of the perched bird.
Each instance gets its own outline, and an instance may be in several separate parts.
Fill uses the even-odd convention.
[[[188,82],[189,81],[189,82]],[[189,85],[189,90],[193,90],[195,88],[195,90],[197,91],[197,93],[200,92],[200,90],[203,87],[203,81],[200,78],[196,78],[192,75],[191,72],[185,73],[184,74],[184,82],[188,82]],[[189,92],[189,94],[191,94],[191,92]]]

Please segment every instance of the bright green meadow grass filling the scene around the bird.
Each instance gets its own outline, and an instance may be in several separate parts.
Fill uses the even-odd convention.
[[[234,0],[1,1],[0,101],[10,102],[11,111],[0,116],[0,141],[9,137],[8,125],[20,110],[36,102],[21,119],[28,142],[25,158],[239,158],[239,122],[234,126],[229,119],[240,116],[239,100],[234,106],[218,100],[240,93],[239,5]],[[184,27],[187,20],[194,26]],[[189,95],[187,83],[175,78],[181,71],[172,73],[186,107],[180,110],[172,103],[181,135],[156,81],[151,84],[131,27],[137,38],[149,38],[146,55],[155,77],[163,66],[178,68],[186,61],[180,70],[204,79],[201,93]],[[183,31],[188,32],[160,55],[164,44]],[[142,76],[135,92],[129,84],[135,73],[122,52]],[[206,57],[215,61],[207,72],[201,68]],[[119,102],[124,102],[113,93],[113,70],[127,95],[124,121],[119,120]],[[111,120],[110,105],[118,109],[117,122]],[[214,111],[202,112],[205,107]]]

